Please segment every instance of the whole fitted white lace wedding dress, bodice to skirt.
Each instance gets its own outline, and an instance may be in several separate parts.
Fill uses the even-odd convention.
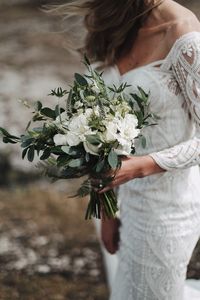
[[[110,299],[183,300],[200,234],[200,33],[181,36],[164,60],[123,76],[108,67],[104,79],[127,82],[127,92],[150,92],[160,120],[143,130],[147,145],[138,143],[137,155],[150,154],[167,170],[119,189],[121,241]]]

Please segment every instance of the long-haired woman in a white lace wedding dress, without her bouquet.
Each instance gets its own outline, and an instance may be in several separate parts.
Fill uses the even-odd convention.
[[[141,86],[160,117],[100,191],[120,186],[119,243],[118,222],[102,222],[105,247],[119,248],[110,299],[182,300],[200,230],[200,23],[172,0],[76,3],[67,14],[84,17],[84,51],[105,81]]]

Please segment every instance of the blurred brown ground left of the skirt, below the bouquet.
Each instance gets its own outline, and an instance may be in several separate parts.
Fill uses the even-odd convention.
[[[58,186],[0,191],[1,300],[107,299],[86,202]]]

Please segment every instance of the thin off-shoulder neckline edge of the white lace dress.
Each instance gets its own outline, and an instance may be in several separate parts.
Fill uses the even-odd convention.
[[[161,67],[168,61],[168,59],[171,57],[171,55],[175,51],[175,49],[177,49],[177,47],[179,47],[180,43],[182,43],[186,38],[189,38],[190,36],[193,36],[193,35],[196,35],[196,34],[200,35],[200,32],[199,31],[190,31],[190,32],[184,33],[179,38],[177,38],[175,40],[174,44],[172,45],[171,49],[169,50],[168,54],[163,59],[153,61],[153,62],[145,64],[143,66],[139,66],[139,67],[131,69],[131,70],[129,70],[129,71],[123,73],[123,74],[120,73],[117,64],[114,64],[113,68],[114,68],[115,72],[117,73],[118,77],[124,78],[126,75],[128,75],[130,73],[133,73],[135,71],[138,71],[140,69],[150,68],[150,67],[155,67],[155,66],[160,66]]]

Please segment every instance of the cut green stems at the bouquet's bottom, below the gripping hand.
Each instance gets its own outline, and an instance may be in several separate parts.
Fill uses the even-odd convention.
[[[113,190],[103,194],[99,194],[94,190],[91,191],[85,219],[88,220],[92,217],[101,219],[102,210],[107,218],[115,218],[118,206],[117,197]]]

